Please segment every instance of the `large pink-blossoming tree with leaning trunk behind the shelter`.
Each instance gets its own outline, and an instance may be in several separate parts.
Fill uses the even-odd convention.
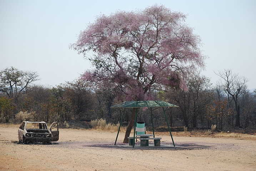
[[[84,73],[86,81],[98,87],[115,87],[119,99],[150,100],[152,90],[186,88],[184,74],[204,67],[201,39],[185,19],[183,13],[163,5],[100,15],[70,48],[83,53],[95,68]],[[125,143],[134,119],[135,110]]]

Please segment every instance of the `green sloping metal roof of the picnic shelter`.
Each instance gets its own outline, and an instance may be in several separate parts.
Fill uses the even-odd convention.
[[[111,108],[179,107],[164,101],[125,101]]]

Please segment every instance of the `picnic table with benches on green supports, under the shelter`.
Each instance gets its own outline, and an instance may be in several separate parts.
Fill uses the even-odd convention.
[[[150,138],[150,137],[152,137],[152,138]],[[152,135],[152,134],[138,134],[135,137],[129,136],[128,139],[129,139],[129,145],[133,145],[134,139],[139,139],[141,147],[149,146],[149,140],[154,140],[155,147],[159,147],[160,140],[162,138],[155,138],[154,135]]]

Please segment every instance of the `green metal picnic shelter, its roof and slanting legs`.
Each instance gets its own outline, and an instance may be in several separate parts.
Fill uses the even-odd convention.
[[[167,116],[166,116],[165,112],[170,107],[179,107],[179,106],[176,106],[174,104],[170,104],[170,103],[167,103],[167,102],[164,102],[164,101],[126,101],[126,102],[123,102],[123,103],[111,106],[110,108],[117,108],[117,109],[119,109],[120,111],[123,112],[122,119],[121,119],[121,122],[120,122],[120,126],[119,126],[119,129],[118,129],[117,135],[116,135],[116,140],[117,140],[117,137],[118,137],[118,134],[119,134],[119,131],[120,131],[120,128],[121,128],[121,124],[122,124],[122,121],[123,121],[123,118],[124,118],[125,109],[126,108],[128,108],[128,109],[129,108],[136,108],[136,110],[135,110],[135,120],[134,120],[134,135],[133,135],[133,143],[132,143],[132,147],[134,147],[134,144],[135,144],[135,128],[136,128],[135,125],[136,125],[136,122],[137,122],[137,113],[138,113],[139,109],[143,108],[143,107],[147,107],[147,108],[150,109],[151,123],[152,123],[152,130],[153,130],[154,138],[155,138],[155,131],[154,131],[154,123],[153,123],[152,111],[154,111],[154,110],[156,110],[158,108],[162,108],[164,110],[164,115],[165,115],[165,119],[166,119],[166,122],[167,122],[167,125],[168,125],[168,129],[169,129],[170,135],[171,135],[172,143],[175,146],[174,140],[172,138],[170,126],[169,126],[169,123],[168,123]],[[166,107],[166,109],[164,107]],[[122,108],[124,108],[124,110],[122,110]],[[152,108],[155,108],[155,109],[152,110]],[[115,145],[116,145],[116,141],[115,141]]]

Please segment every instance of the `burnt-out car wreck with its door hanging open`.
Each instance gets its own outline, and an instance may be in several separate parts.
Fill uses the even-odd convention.
[[[44,121],[23,121],[18,130],[18,138],[24,144],[58,141],[59,125],[57,122],[54,122],[51,124],[50,129],[48,129]]]

